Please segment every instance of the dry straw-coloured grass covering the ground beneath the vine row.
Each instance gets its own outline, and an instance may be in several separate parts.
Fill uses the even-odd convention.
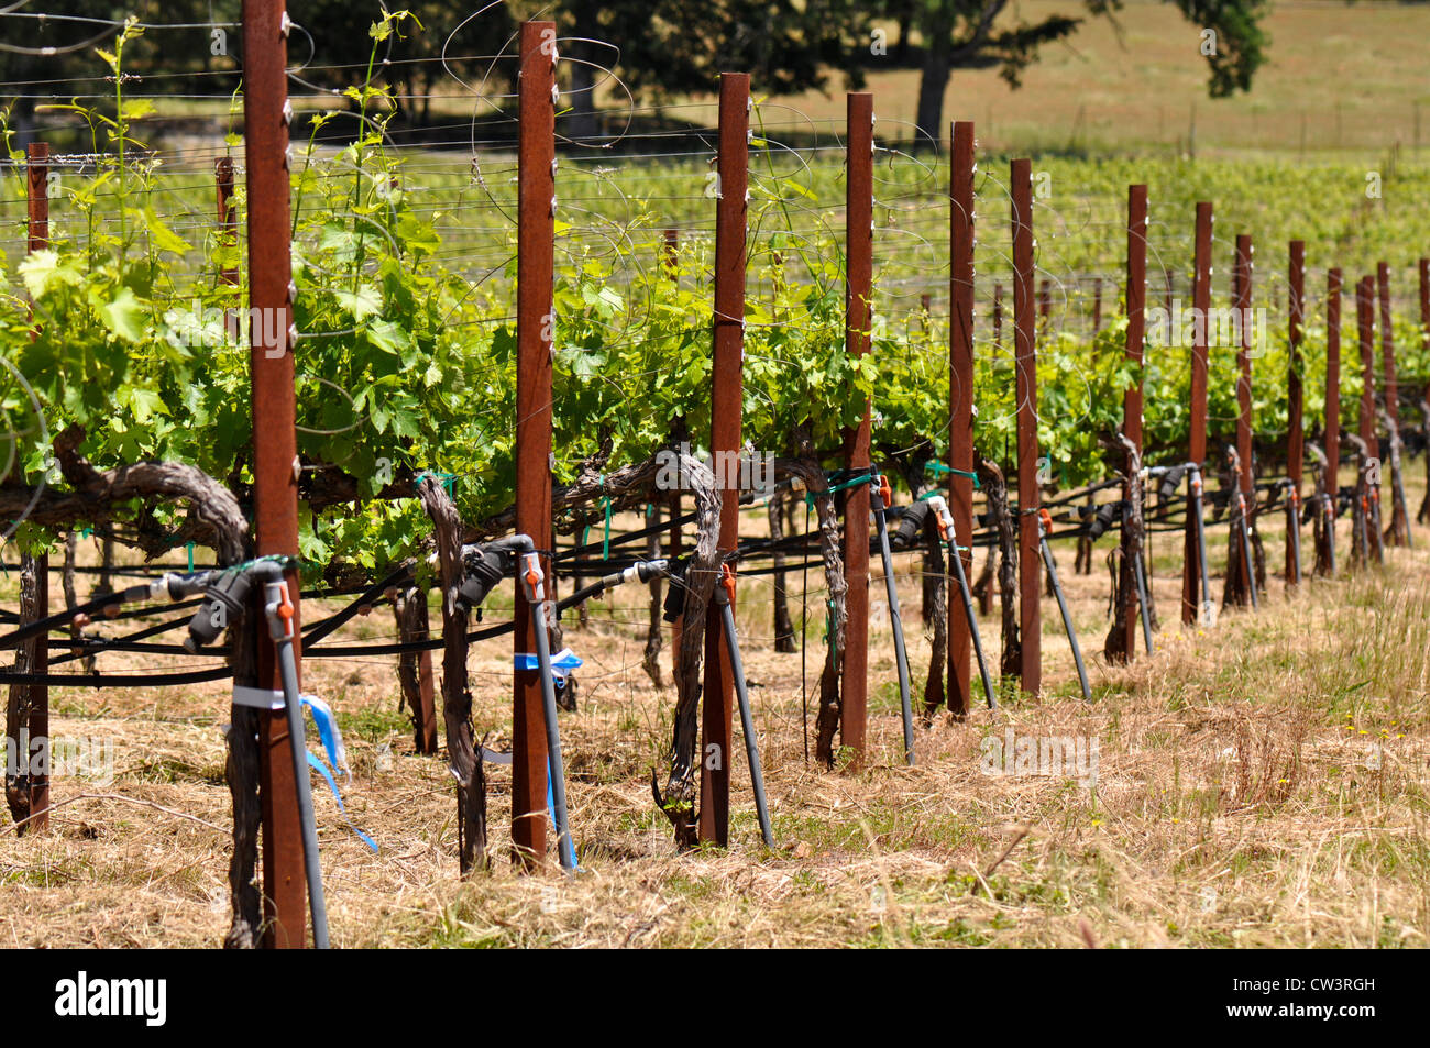
[[[1170,540],[1158,542],[1164,555]],[[914,569],[901,558],[901,572]],[[1177,583],[1158,570],[1170,619]],[[809,580],[812,681],[822,625],[818,573]],[[1100,649],[1105,572],[1068,582],[1084,646]],[[917,576],[901,585],[915,625]],[[449,776],[440,759],[412,752],[392,662],[310,661],[305,683],[333,702],[347,735],[349,811],[382,845],[368,852],[317,785],[335,942],[1423,946],[1430,553],[1396,552],[1384,573],[1316,583],[1291,600],[1280,580],[1271,588],[1257,615],[1228,615],[1213,631],[1168,626],[1157,656],[1131,668],[1094,658],[1091,706],[1070,698],[1071,661],[1047,602],[1045,702],[997,721],[985,711],[964,725],[938,718],[918,732],[917,768],[898,762],[892,648],[875,631],[874,751],[855,775],[805,765],[799,656],[771,649],[768,582],[751,580],[746,666],[781,846],[759,845],[736,766],[734,846],[694,855],[674,852],[651,802],[671,692],[641,673],[641,595],[622,595],[629,603],[598,606],[591,626],[568,633],[588,661],[582,708],[562,723],[585,866],[575,881],[512,872],[509,771],[495,768],[499,858],[490,875],[460,884]],[[390,632],[379,610],[345,635]],[[919,678],[928,648],[914,632]],[[100,665],[140,663],[110,655]],[[498,749],[509,665],[500,643],[472,656],[479,729]],[[49,835],[0,828],[6,945],[216,945],[227,926],[223,688],[56,692],[53,702],[56,735],[114,739],[116,778],[56,782],[64,806]],[[1097,739],[1095,786],[987,775],[980,743],[1010,728]]]

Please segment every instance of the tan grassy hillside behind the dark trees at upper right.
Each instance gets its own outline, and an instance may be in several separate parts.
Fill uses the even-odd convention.
[[[1030,21],[1054,11],[1085,14],[1068,0],[1018,4]],[[1413,147],[1417,137],[1430,144],[1420,46],[1430,36],[1430,4],[1301,0],[1277,4],[1266,29],[1270,60],[1251,93],[1213,102],[1198,27],[1171,4],[1133,0],[1115,24],[1088,20],[1070,41],[1045,49],[1021,90],[997,70],[955,71],[944,117],[977,120],[987,146],[1021,152],[1185,152],[1193,126],[1198,156],[1374,152],[1396,142]],[[869,87],[881,122],[914,119],[917,70],[875,71]],[[791,102],[817,120],[844,119],[837,92]]]

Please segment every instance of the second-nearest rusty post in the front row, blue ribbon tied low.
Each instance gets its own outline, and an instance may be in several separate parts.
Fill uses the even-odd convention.
[[[556,23],[521,29],[516,229],[516,530],[551,550],[551,353],[556,265]],[[552,578],[551,558],[542,573]],[[513,653],[536,651],[518,586]],[[546,715],[541,673],[518,669],[512,693],[512,845],[532,869],[546,858]]]

